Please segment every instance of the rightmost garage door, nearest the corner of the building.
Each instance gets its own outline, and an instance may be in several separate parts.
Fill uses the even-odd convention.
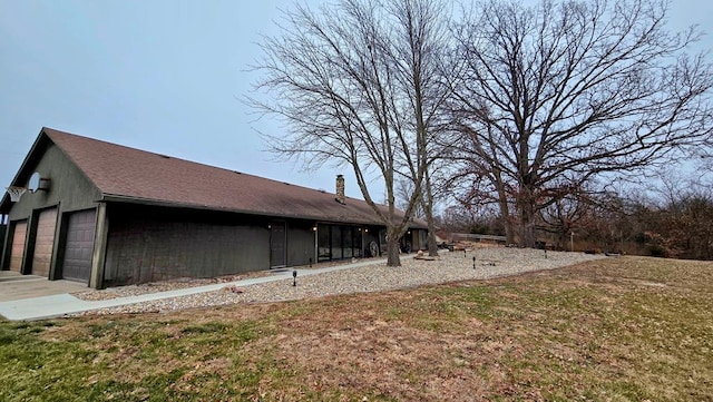
[[[95,210],[82,210],[69,215],[67,242],[62,258],[62,277],[89,282],[91,253],[94,252]]]

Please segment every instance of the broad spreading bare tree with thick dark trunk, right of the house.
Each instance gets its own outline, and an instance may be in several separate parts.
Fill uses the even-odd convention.
[[[634,173],[710,138],[713,75],[656,0],[482,3],[457,30],[460,157],[509,241],[594,177]]]

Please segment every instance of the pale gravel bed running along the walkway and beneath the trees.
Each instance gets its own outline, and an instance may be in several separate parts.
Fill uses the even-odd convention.
[[[473,256],[476,257],[476,269],[473,269]],[[402,256],[401,267],[388,267],[385,264],[374,263],[374,265],[315,275],[305,274],[297,277],[296,286],[293,286],[291,276],[244,287],[226,284],[219,291],[94,310],[80,315],[169,312],[237,303],[280,302],[335,294],[380,292],[553,269],[597,258],[605,258],[605,256],[565,252],[547,252],[545,254],[540,249],[507,247],[477,248],[465,254],[463,252],[442,252],[436,261],[416,259],[409,255]],[[257,274],[265,275],[265,273]],[[175,282],[173,286],[177,286],[177,284],[179,282]],[[162,286],[172,286],[172,284]],[[156,287],[144,287],[156,291]],[[117,288],[114,292],[130,291]],[[146,293],[145,291],[140,292]],[[91,292],[84,293],[88,300],[95,300],[88,295]]]

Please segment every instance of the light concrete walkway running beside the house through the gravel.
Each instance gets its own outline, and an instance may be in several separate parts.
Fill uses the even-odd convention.
[[[310,268],[310,269],[287,268],[287,269],[276,271],[273,275],[270,275],[270,276],[263,276],[263,277],[257,277],[252,280],[226,282],[226,283],[196,286],[196,287],[186,287],[186,288],[168,291],[168,292],[149,293],[149,294],[144,294],[139,296],[117,297],[117,298],[110,298],[110,300],[104,300],[104,301],[82,301],[80,298],[77,298],[70,295],[69,292],[79,292],[82,290],[87,290],[87,287],[82,284],[69,283],[65,285],[70,287],[71,285],[77,285],[78,288],[64,292],[60,294],[51,294],[47,296],[2,301],[0,302],[0,315],[11,321],[53,318],[53,317],[64,316],[66,314],[80,313],[80,312],[86,312],[90,310],[116,307],[116,306],[155,301],[160,298],[187,296],[196,293],[213,292],[213,291],[218,291],[225,286],[232,286],[232,285],[243,287],[243,286],[250,286],[250,285],[273,282],[273,281],[284,281],[286,278],[292,278],[293,271],[297,272],[297,285],[299,285],[300,277],[318,275],[318,274],[323,274],[323,273],[333,272],[333,271],[352,269],[352,268],[358,268],[361,266],[368,266],[368,265],[374,265],[374,264],[383,264],[385,262],[387,262],[385,259],[369,259],[364,262],[335,265],[335,266],[330,266],[324,268]],[[47,281],[45,278],[40,278],[39,276],[32,280],[40,280],[40,281],[43,281],[45,283],[50,283],[50,284],[58,282],[58,281]]]

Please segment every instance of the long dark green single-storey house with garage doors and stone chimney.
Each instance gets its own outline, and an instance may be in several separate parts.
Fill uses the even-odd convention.
[[[95,288],[360,258],[384,244],[341,176],[331,194],[50,128],[0,213],[2,269]],[[403,243],[424,246],[426,228],[413,220]]]

